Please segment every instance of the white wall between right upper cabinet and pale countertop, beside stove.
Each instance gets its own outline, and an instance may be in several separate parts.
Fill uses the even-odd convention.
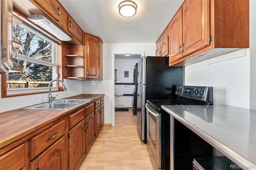
[[[214,105],[250,109],[250,49],[186,66],[185,85],[213,86]]]

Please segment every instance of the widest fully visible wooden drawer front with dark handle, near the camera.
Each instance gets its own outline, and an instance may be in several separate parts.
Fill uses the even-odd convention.
[[[30,159],[32,160],[65,133],[65,120],[30,139]]]

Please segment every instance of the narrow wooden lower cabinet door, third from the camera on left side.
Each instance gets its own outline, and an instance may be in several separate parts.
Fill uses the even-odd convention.
[[[85,118],[86,130],[85,130],[85,143],[86,152],[90,149],[94,141],[94,112],[91,112]]]

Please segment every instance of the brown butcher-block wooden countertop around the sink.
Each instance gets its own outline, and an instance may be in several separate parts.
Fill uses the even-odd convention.
[[[88,99],[70,109],[16,109],[0,113],[0,148],[102,97],[104,94],[67,97],[66,99]]]

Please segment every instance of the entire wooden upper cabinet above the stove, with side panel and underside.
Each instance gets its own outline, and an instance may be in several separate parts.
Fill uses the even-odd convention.
[[[185,0],[169,24],[169,66],[249,47],[249,0]]]

